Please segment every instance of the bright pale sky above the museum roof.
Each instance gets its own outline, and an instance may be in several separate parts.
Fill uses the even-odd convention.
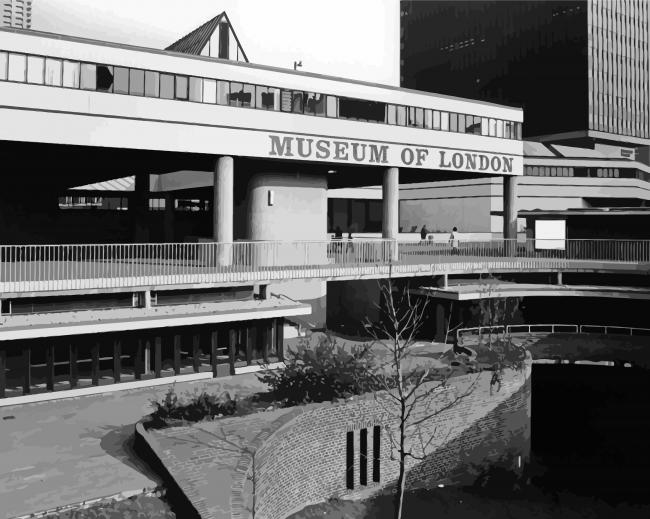
[[[32,29],[165,48],[222,11],[252,63],[399,84],[399,0],[33,0]]]

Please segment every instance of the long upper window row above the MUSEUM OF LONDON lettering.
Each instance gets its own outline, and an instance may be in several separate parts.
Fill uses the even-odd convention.
[[[522,139],[519,122],[26,54],[0,52],[0,80]]]

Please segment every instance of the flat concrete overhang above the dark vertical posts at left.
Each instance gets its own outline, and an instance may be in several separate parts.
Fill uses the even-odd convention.
[[[2,316],[0,341],[149,330],[309,315],[308,304],[279,298],[255,301],[119,308]]]

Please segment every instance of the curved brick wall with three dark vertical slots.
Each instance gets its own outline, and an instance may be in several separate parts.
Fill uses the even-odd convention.
[[[439,482],[470,482],[469,464],[496,461],[504,453],[524,459],[530,449],[530,374],[506,372],[499,392],[490,395],[491,372],[478,376],[473,392],[422,426],[423,435],[436,430],[424,461],[411,462],[409,486]],[[439,392],[414,413],[414,419],[431,406],[444,406],[454,391],[463,392],[477,375],[458,377],[451,388]],[[453,384],[453,385],[452,385]],[[454,389],[456,388],[456,389]],[[308,504],[330,497],[359,498],[392,484],[398,463],[392,461],[387,427],[396,422],[386,407],[372,396],[345,403],[312,405],[272,433],[256,455],[257,517],[283,519]],[[346,437],[348,431],[381,427],[381,478],[372,483],[372,436],[368,442],[368,485],[359,485],[359,434],[355,432],[355,488],[346,488]],[[417,452],[417,445],[414,446]]]

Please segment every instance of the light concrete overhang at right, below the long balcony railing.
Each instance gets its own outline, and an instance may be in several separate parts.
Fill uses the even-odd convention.
[[[528,283],[463,283],[447,288],[420,287],[412,294],[447,299],[471,301],[504,297],[609,297],[617,299],[650,300],[650,288],[610,287],[591,285],[550,285]]]

